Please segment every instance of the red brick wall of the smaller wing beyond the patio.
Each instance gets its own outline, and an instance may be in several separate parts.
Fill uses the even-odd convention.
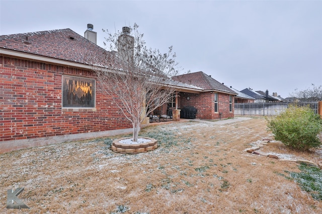
[[[188,100],[187,97],[190,99]],[[234,97],[232,97],[232,111],[229,112],[229,95],[218,93],[218,112],[215,112],[214,94],[203,92],[200,94],[180,93],[179,108],[185,106],[194,106],[197,108],[196,118],[199,119],[219,119],[219,113],[222,112],[221,118],[233,117]]]

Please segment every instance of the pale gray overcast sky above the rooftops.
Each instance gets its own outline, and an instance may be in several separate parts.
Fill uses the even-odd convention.
[[[174,47],[181,73],[283,98],[322,85],[322,1],[4,1],[0,34],[139,25],[148,47]]]

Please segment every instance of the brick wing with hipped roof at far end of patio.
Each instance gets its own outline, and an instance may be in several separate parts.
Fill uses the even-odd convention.
[[[233,103],[237,93],[224,84],[201,71],[175,76],[172,79],[202,89],[199,93],[180,92],[179,108],[195,107],[196,118],[199,119],[233,117]]]

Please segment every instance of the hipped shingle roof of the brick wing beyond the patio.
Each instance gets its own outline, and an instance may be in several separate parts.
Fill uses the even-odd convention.
[[[178,75],[173,77],[172,79],[192,86],[196,86],[203,90],[215,90],[228,94],[237,94],[235,91],[231,90],[224,84],[219,83],[217,80],[211,78],[211,76],[203,73],[202,71]]]

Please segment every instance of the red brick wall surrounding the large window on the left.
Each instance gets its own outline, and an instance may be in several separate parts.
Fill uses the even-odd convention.
[[[93,78],[87,70],[0,57],[0,141],[132,127],[98,82],[96,110],[62,108],[62,75]]]

